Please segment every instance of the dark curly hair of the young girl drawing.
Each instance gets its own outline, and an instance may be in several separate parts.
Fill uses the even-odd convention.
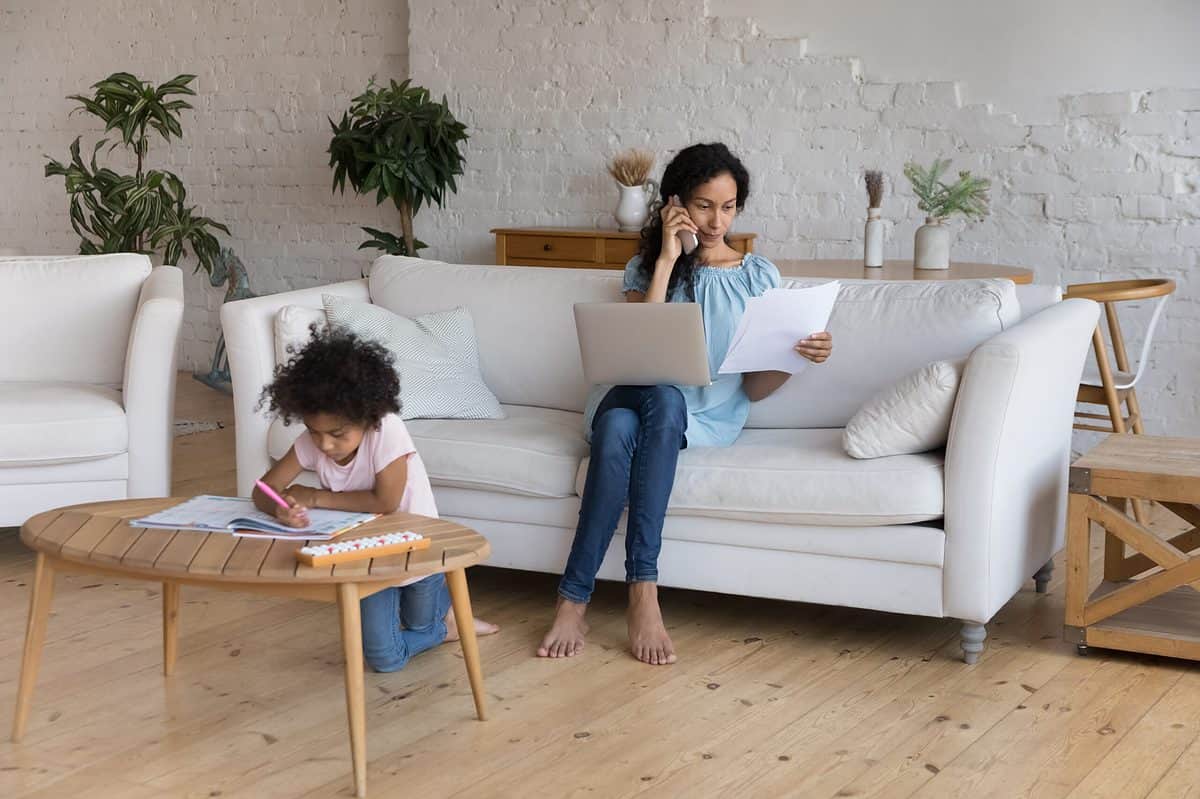
[[[338,329],[319,332],[263,389],[264,405],[284,423],[312,414],[334,414],[374,427],[400,411],[400,378],[392,354],[379,343]]]

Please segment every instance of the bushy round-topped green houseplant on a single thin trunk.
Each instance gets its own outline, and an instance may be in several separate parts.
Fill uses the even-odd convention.
[[[433,102],[427,89],[412,82],[390,82],[350,101],[340,122],[329,120],[329,166],[334,190],[346,192],[346,181],[359,194],[376,192],[376,204],[391,199],[400,211],[401,236],[362,228],[372,238],[359,245],[394,256],[416,256],[425,242],[413,235],[413,216],[421,205],[445,200],[446,190],[458,191],[455,175],[464,162],[460,145],[467,126],[455,119],[443,96]]]

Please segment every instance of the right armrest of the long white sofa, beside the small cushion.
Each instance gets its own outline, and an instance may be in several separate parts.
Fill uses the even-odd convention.
[[[967,360],[946,449],[946,615],[986,623],[1062,548],[1075,395],[1099,306],[1067,300]]]

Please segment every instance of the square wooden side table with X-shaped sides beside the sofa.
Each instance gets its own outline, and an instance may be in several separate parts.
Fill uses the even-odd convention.
[[[1200,439],[1110,435],[1072,465],[1069,487],[1063,637],[1081,654],[1096,645],[1200,660]],[[1193,527],[1164,540],[1126,515],[1127,499]],[[1104,579],[1088,595],[1092,522],[1105,529]]]

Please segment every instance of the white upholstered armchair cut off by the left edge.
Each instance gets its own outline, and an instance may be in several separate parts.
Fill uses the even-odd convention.
[[[0,259],[0,527],[170,493],[182,316],[145,256]]]

